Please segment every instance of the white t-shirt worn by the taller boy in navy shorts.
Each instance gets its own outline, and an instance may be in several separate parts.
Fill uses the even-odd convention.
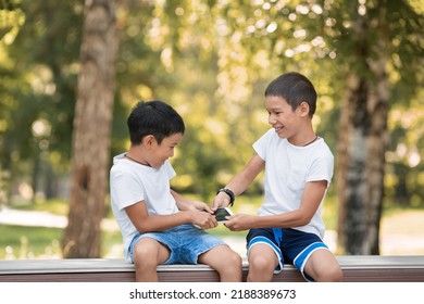
[[[264,203],[258,215],[298,210],[308,181],[326,180],[329,187],[334,156],[323,138],[305,147],[297,147],[270,129],[253,143],[253,149],[265,161]],[[292,228],[323,238],[325,225],[321,208],[322,202],[308,225]]]

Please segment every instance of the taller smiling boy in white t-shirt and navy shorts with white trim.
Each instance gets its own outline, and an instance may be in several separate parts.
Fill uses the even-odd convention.
[[[265,90],[272,126],[254,144],[255,154],[213,202],[212,210],[233,204],[265,172],[264,202],[258,215],[236,214],[225,224],[247,236],[248,281],[271,281],[285,263],[308,281],[341,281],[337,259],[322,241],[321,207],[333,177],[334,157],[312,127],[316,91],[299,73],[274,79]]]

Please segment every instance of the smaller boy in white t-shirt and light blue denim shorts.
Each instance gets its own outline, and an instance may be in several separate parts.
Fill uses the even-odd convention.
[[[198,263],[214,268],[221,281],[241,281],[240,256],[203,230],[216,227],[213,211],[170,187],[175,172],[169,159],[183,138],[183,118],[164,102],[139,102],[127,125],[132,144],[113,159],[110,188],[136,281],[158,281],[160,264]]]

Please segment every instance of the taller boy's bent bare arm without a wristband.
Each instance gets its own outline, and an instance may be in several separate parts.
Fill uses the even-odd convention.
[[[267,216],[236,214],[229,217],[225,226],[233,231],[239,231],[251,228],[292,228],[308,225],[319,208],[326,189],[326,180],[307,182],[298,210]]]

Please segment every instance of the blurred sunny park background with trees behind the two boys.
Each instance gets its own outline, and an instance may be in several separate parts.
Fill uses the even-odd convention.
[[[423,254],[423,28],[422,0],[1,0],[0,258],[122,256],[109,169],[139,100],[182,114],[172,183],[211,202],[288,71],[315,85],[335,155],[331,249]],[[261,192],[235,211],[254,214]],[[210,231],[244,254],[245,232]]]

